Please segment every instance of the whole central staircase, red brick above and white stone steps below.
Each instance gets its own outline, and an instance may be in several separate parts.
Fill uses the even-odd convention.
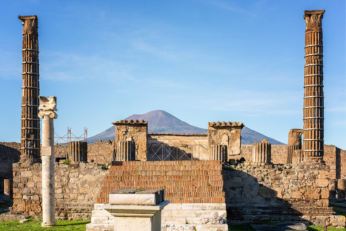
[[[227,231],[220,161],[113,161],[92,211],[87,231],[114,229],[102,206],[122,188],[165,189],[162,231]]]

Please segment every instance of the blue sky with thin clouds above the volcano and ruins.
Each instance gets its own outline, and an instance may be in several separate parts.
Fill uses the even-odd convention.
[[[0,141],[20,142],[18,15],[37,15],[40,95],[55,132],[98,134],[161,109],[207,128],[237,121],[287,143],[301,128],[303,11],[326,9],[325,143],[345,149],[345,1],[2,1]]]

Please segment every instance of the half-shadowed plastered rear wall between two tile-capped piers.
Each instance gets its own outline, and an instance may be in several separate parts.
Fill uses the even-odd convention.
[[[165,160],[208,160],[207,158],[207,143],[208,137],[206,134],[148,134],[148,160],[160,160],[155,156],[156,152],[164,151]],[[165,145],[164,148],[160,145]],[[158,149],[163,150],[158,150]],[[158,151],[158,152],[157,152]],[[172,156],[167,156],[168,154]],[[176,158],[177,154],[177,158]],[[174,158],[174,159],[173,159]]]

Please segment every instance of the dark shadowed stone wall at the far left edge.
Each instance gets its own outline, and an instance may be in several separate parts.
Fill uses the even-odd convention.
[[[20,143],[0,142],[0,190],[3,190],[3,179],[12,179],[12,164],[20,159]]]

